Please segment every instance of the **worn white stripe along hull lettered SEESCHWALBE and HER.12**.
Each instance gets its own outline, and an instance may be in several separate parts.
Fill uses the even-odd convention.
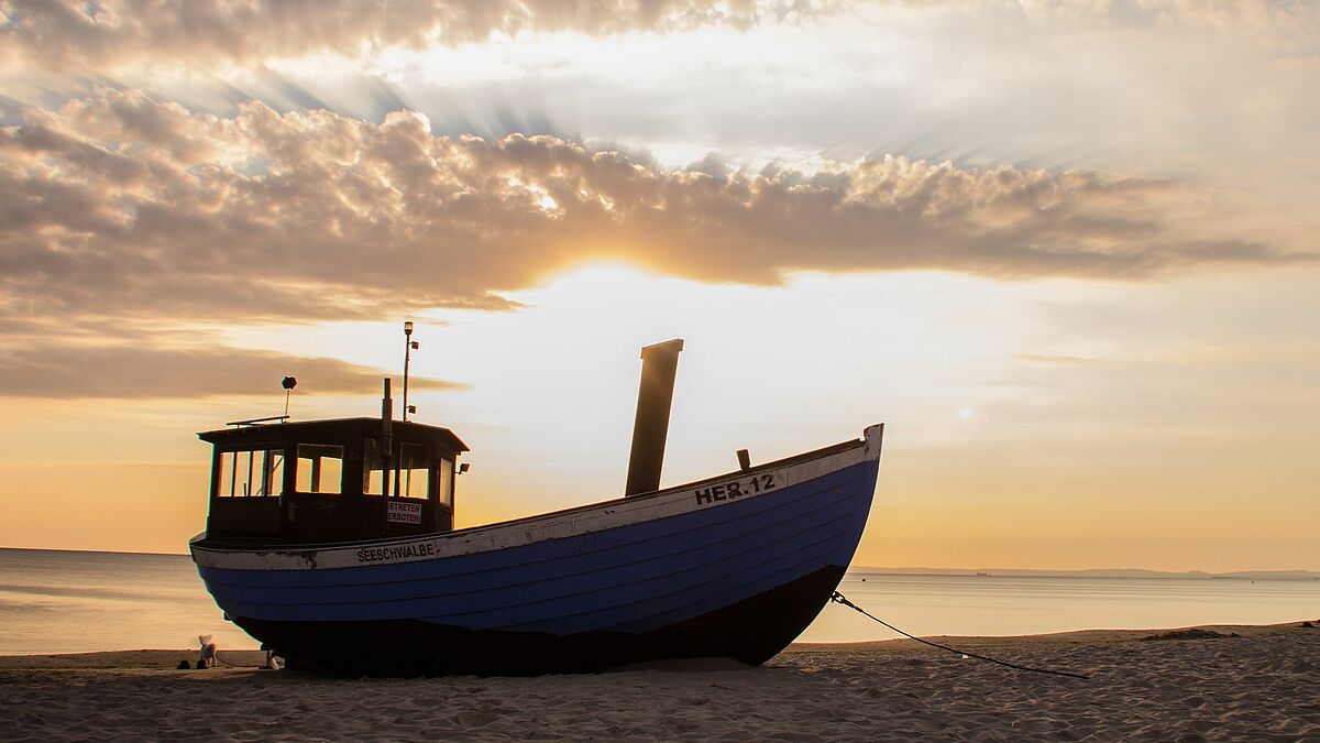
[[[830,453],[820,459],[797,461],[772,469],[752,469],[733,473],[719,480],[678,485],[649,496],[623,498],[597,508],[570,510],[558,514],[463,529],[446,534],[428,534],[413,539],[388,542],[360,542],[325,547],[294,547],[286,550],[216,550],[199,545],[203,535],[194,537],[193,559],[203,567],[226,570],[329,570],[363,567],[368,565],[395,565],[450,557],[469,555],[519,547],[549,539],[562,539],[680,516],[708,508],[719,508],[734,501],[754,498],[822,477],[862,461],[880,456],[880,426],[866,430],[865,444]]]

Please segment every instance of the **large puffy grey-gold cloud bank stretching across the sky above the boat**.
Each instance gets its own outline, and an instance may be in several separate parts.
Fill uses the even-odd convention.
[[[135,90],[0,128],[0,316],[218,321],[508,309],[590,260],[706,282],[933,268],[1147,279],[1309,258],[1164,180],[884,156],[663,171],[554,136],[327,111],[194,114]]]

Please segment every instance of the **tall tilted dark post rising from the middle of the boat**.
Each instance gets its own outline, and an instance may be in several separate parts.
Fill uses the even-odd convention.
[[[632,422],[632,453],[628,456],[628,484],[624,496],[660,489],[664,442],[669,434],[673,381],[678,373],[682,338],[642,349],[642,385],[638,389],[638,416]]]

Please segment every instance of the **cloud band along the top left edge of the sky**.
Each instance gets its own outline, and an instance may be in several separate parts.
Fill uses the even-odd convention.
[[[809,16],[821,3],[787,0],[5,0],[0,62],[77,70],[169,61],[211,66],[387,46],[480,41],[496,32],[744,28]]]

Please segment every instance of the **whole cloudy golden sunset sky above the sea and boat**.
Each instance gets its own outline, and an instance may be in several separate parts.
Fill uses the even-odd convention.
[[[1320,5],[0,0],[0,546],[182,553],[195,432],[458,525],[886,422],[854,565],[1320,570]],[[397,382],[396,382],[397,383]]]

